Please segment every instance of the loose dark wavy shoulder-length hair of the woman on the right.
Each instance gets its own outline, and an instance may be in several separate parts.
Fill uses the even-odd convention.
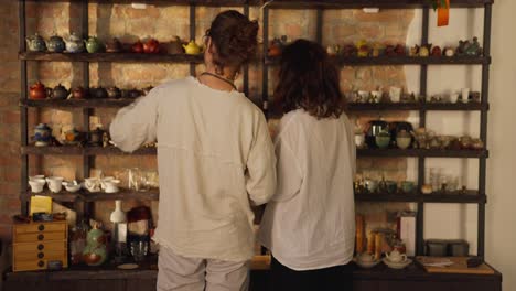
[[[320,44],[307,40],[284,47],[272,103],[279,116],[300,108],[318,119],[338,118],[345,110],[336,66]]]

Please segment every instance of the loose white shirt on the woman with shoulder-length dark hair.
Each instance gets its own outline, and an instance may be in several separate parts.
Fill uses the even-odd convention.
[[[278,185],[258,240],[294,270],[345,265],[353,258],[353,128],[343,114],[320,119],[284,115],[275,139]]]

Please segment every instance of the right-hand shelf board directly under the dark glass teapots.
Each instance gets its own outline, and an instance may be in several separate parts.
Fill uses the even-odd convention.
[[[357,149],[358,157],[487,158],[487,150]]]

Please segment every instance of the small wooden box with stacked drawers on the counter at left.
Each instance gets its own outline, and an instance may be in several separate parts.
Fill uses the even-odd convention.
[[[68,267],[68,225],[62,222],[14,224],[12,270],[45,270],[49,261]]]

